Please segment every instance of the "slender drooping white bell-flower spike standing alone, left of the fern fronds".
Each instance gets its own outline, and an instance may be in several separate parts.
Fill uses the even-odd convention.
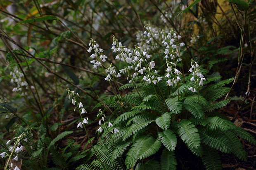
[[[83,120],[83,122],[80,121],[77,124],[77,128],[79,128],[79,127],[83,128],[83,124],[88,124],[88,117],[82,118],[82,114],[87,113],[87,112],[83,108],[83,103],[82,102],[78,102],[77,99],[76,99],[76,97],[79,98],[80,95],[78,93],[75,93],[74,91],[69,90],[69,88],[67,88],[66,90],[68,91],[69,99],[73,96],[72,99],[71,99],[71,102],[72,102],[73,105],[76,105],[74,111],[76,111],[76,108],[78,108],[78,111],[79,111],[79,113],[81,115],[81,120]]]

